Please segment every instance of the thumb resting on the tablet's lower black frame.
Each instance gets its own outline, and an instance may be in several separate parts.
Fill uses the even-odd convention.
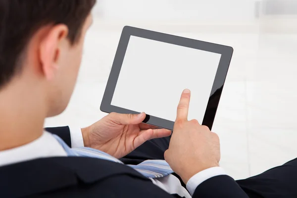
[[[140,114],[112,113],[110,115],[111,115],[110,119],[117,124],[140,124],[146,118],[145,113],[140,113]]]

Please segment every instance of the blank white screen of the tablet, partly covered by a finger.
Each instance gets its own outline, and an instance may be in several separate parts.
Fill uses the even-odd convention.
[[[203,121],[221,54],[131,36],[111,105],[175,121],[184,89],[188,119]]]

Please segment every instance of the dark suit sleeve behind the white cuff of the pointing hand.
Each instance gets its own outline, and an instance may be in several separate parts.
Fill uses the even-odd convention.
[[[201,183],[196,188],[193,198],[248,198],[248,196],[233,178],[220,175]]]

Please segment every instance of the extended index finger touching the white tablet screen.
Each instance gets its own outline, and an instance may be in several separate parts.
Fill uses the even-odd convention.
[[[177,107],[176,120],[188,120],[191,91],[185,89]]]

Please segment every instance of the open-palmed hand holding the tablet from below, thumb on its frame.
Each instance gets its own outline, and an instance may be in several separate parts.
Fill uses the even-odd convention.
[[[148,140],[171,135],[170,130],[142,123],[145,118],[145,113],[110,113],[82,129],[84,145],[121,158]]]

